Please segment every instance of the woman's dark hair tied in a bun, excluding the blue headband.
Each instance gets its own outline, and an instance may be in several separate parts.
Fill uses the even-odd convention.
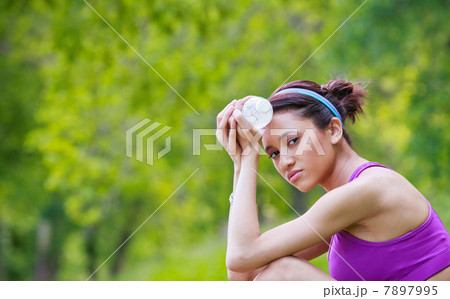
[[[320,86],[312,81],[296,80],[280,86],[270,96],[269,101],[274,113],[298,111],[301,117],[310,117],[320,129],[325,129],[335,115],[324,104],[310,96],[299,93],[275,95],[287,88],[309,89],[325,97],[341,114],[344,124],[347,119],[355,123],[358,114],[364,114],[361,106],[365,104],[364,98],[367,96],[367,91],[359,83],[340,79],[331,80],[326,86]],[[350,136],[345,129],[343,135],[347,143],[352,146]]]

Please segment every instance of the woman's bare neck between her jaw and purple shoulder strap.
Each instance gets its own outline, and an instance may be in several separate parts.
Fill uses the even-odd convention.
[[[358,156],[347,142],[344,142],[336,152],[336,159],[330,167],[330,172],[319,185],[327,192],[345,185],[356,168],[365,162],[368,160]]]

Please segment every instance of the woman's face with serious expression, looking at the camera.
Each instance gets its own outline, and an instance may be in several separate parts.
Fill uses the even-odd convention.
[[[327,177],[335,149],[330,130],[321,130],[312,119],[294,113],[275,113],[265,128],[262,144],[281,176],[306,192]]]

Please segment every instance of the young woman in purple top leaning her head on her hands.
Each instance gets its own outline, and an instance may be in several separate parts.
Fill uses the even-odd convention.
[[[351,82],[294,81],[269,98],[274,115],[263,129],[241,113],[251,96],[219,113],[217,138],[235,169],[230,280],[450,280],[450,235],[428,200],[351,147],[344,124],[363,113],[365,96]],[[376,129],[369,133],[376,138]],[[261,142],[290,184],[327,191],[302,216],[262,234],[256,205]],[[330,275],[308,262],[327,251]]]

